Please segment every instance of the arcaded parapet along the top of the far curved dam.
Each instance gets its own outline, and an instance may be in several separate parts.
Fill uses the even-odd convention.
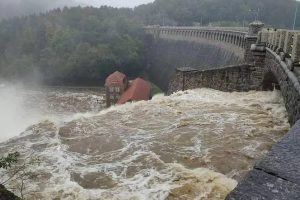
[[[247,28],[147,26],[146,33],[158,38],[206,39],[245,47]]]

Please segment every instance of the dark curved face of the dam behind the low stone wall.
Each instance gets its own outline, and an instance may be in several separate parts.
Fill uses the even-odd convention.
[[[188,66],[204,70],[237,65],[244,61],[241,46],[201,38],[200,35],[191,38],[188,35],[169,37],[161,34],[156,38],[148,36],[145,44],[147,72],[150,79],[164,91],[168,90],[176,68]]]

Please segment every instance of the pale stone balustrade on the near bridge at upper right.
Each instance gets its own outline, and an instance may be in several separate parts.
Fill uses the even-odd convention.
[[[300,31],[263,29],[258,34],[257,43],[280,55],[290,70],[300,66]]]

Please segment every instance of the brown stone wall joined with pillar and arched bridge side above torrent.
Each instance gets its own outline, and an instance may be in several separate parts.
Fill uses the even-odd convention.
[[[253,51],[248,64],[218,69],[197,70],[178,68],[169,84],[168,93],[201,87],[225,92],[281,90],[291,125],[300,119],[300,84],[296,74],[288,69],[274,51]]]

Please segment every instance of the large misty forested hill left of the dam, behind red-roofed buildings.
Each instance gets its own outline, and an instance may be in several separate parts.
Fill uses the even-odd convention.
[[[53,84],[140,73],[142,25],[130,9],[57,9],[0,23],[0,72]]]

